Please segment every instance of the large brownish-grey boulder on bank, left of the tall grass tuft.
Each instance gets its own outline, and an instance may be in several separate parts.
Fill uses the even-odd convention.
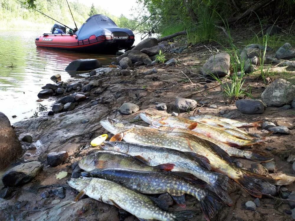
[[[205,76],[213,74],[218,77],[224,77],[229,73],[229,70],[230,55],[227,53],[220,53],[209,57],[202,67],[201,73]]]

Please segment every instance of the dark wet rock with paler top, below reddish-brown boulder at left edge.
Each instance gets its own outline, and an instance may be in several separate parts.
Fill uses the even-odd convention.
[[[19,164],[6,171],[2,177],[2,182],[6,187],[19,186],[30,182],[41,170],[42,165],[38,161]]]

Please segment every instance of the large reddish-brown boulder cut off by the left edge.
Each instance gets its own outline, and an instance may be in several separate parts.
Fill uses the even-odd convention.
[[[22,154],[22,151],[9,119],[0,112],[0,171],[14,162]]]

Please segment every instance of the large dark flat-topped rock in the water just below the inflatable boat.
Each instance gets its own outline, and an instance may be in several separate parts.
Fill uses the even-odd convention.
[[[96,59],[77,59],[72,61],[65,71],[89,71],[101,67],[101,63]]]

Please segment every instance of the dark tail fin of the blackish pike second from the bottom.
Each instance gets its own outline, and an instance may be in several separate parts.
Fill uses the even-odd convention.
[[[223,203],[220,198],[212,192],[208,192],[204,199],[200,201],[201,210],[207,221],[214,219],[214,216],[217,212],[217,202]]]

